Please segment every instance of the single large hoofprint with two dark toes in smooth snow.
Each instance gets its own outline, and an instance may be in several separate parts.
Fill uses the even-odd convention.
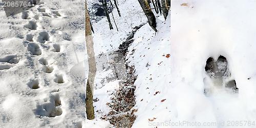
[[[220,55],[217,61],[213,57],[209,57],[206,60],[205,72],[210,76],[215,86],[221,87],[224,85],[226,88],[232,89],[236,93],[238,92],[239,89],[237,88],[236,80],[226,81],[231,76],[226,57]]]

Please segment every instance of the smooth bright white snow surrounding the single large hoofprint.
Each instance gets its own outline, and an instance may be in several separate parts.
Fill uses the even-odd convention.
[[[183,3],[187,6],[181,6]],[[194,126],[186,123],[184,127],[204,123],[207,127],[255,127],[255,4],[172,1],[171,122],[194,122]],[[236,80],[238,93],[205,73],[207,58],[217,60],[220,55],[227,59],[229,79]],[[212,93],[204,95],[210,85]]]

